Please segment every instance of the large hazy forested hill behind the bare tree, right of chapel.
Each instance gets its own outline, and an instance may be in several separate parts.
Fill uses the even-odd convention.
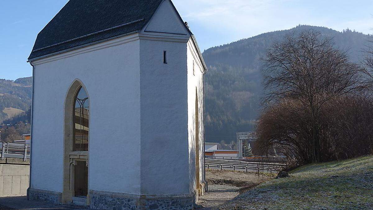
[[[333,37],[336,46],[348,50],[355,62],[359,62],[361,50],[371,37],[351,30],[339,32],[299,25],[205,50],[203,57],[209,68],[205,79],[207,142],[225,140],[228,143],[236,139],[236,132],[254,129],[263,92],[260,58],[275,41],[303,30],[320,31],[323,36]]]

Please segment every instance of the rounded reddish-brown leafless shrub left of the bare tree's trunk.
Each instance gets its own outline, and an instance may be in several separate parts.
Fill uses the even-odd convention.
[[[267,107],[257,124],[257,151],[268,154],[276,150],[299,164],[313,161],[311,116],[307,107],[296,99],[283,99]]]

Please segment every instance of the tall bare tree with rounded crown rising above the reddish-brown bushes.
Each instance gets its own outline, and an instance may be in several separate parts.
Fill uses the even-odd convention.
[[[310,119],[312,160],[320,161],[320,109],[333,98],[364,88],[363,69],[349,61],[346,52],[333,47],[319,32],[288,35],[267,50],[263,69],[264,104],[286,99],[304,105]]]

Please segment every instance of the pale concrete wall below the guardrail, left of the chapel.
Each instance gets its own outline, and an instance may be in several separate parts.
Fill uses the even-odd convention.
[[[0,164],[0,197],[26,195],[30,166]]]

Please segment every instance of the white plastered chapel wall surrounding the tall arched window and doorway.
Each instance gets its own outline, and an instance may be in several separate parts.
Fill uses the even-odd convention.
[[[33,62],[31,187],[62,192],[66,93],[90,97],[89,189],[140,193],[140,41],[137,35]]]

